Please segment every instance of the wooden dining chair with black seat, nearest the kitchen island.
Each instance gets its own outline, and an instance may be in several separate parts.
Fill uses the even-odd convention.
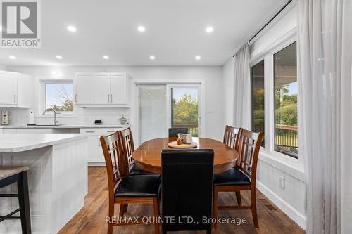
[[[132,224],[128,219],[120,219],[127,211],[129,203],[153,203],[154,216],[159,216],[160,175],[129,175],[122,170],[123,147],[121,134],[117,131],[100,137],[101,148],[106,162],[108,175],[108,234],[113,233],[113,226]],[[125,157],[126,158],[126,157]],[[118,219],[115,219],[115,204],[120,204]],[[137,219],[134,224],[141,224]],[[159,225],[155,224],[155,233],[159,233]]]

